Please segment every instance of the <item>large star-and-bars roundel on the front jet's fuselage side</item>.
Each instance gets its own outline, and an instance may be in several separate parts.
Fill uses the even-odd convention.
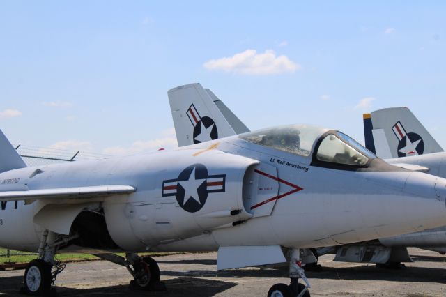
[[[176,179],[162,182],[162,197],[175,196],[185,211],[196,213],[208,199],[208,194],[224,192],[226,174],[209,175],[203,164],[190,165]]]

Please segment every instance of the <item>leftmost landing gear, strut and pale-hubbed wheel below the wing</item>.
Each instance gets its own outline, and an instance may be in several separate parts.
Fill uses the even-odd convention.
[[[56,247],[62,243],[66,243],[77,236],[71,236],[62,241],[56,242],[56,234],[52,231],[43,231],[40,237],[40,245],[38,249],[39,257],[31,262],[25,270],[24,288],[22,291],[28,295],[55,295],[51,285],[56,281],[56,276],[65,268],[64,264],[60,264],[54,260]]]

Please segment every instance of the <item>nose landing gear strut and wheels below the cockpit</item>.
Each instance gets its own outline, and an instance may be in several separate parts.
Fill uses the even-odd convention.
[[[275,284],[268,291],[268,297],[310,297],[308,289],[311,286],[305,276],[305,271],[302,268],[300,260],[300,249],[291,250],[289,263],[291,284]],[[299,278],[302,278],[306,285],[300,284]]]

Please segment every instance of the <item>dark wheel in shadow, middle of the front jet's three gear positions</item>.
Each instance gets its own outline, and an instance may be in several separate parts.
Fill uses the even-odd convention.
[[[160,268],[154,259],[144,257],[133,264],[135,275],[130,282],[131,287],[140,290],[158,291],[160,287]]]

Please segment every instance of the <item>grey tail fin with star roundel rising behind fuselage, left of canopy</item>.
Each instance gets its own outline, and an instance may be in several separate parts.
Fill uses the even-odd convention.
[[[178,146],[249,132],[222,100],[201,84],[178,86],[167,95]]]

